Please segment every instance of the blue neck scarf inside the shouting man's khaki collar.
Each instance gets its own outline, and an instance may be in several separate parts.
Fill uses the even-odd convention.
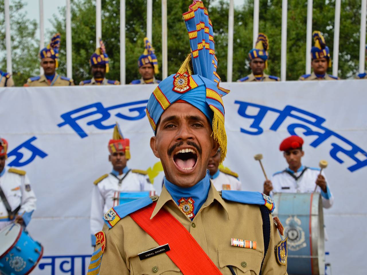
[[[210,180],[209,180],[209,171],[207,170],[207,174],[204,179],[200,180],[197,184],[192,187],[179,187],[170,183],[166,177],[164,177],[164,186],[166,186],[167,191],[171,194],[172,199],[180,205],[178,202],[181,198],[188,200],[189,198],[194,201],[194,210],[193,214],[196,215],[201,205],[206,201],[210,189]],[[192,220],[194,218],[190,217]]]

